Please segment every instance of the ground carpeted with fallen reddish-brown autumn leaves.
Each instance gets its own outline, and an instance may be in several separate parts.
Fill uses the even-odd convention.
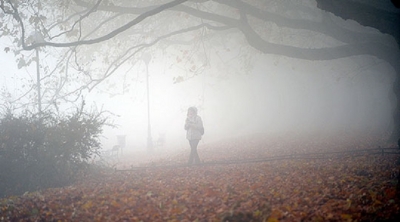
[[[188,150],[150,159],[125,155],[117,166],[124,171],[104,171],[73,186],[1,199],[0,221],[396,220],[397,154],[224,162],[361,150],[375,142],[245,137],[200,144],[204,164],[191,167],[182,166]]]

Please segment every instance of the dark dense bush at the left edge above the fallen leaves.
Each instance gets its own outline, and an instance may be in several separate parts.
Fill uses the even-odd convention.
[[[98,154],[104,124],[79,110],[41,118],[8,111],[0,120],[0,197],[72,183]]]

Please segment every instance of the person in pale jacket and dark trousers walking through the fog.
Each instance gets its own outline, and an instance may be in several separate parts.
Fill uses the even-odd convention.
[[[201,117],[197,115],[196,107],[189,107],[184,128],[186,130],[186,139],[189,140],[190,144],[190,156],[188,164],[200,164],[200,157],[197,153],[197,145],[201,140],[201,136],[204,134],[204,127]]]

